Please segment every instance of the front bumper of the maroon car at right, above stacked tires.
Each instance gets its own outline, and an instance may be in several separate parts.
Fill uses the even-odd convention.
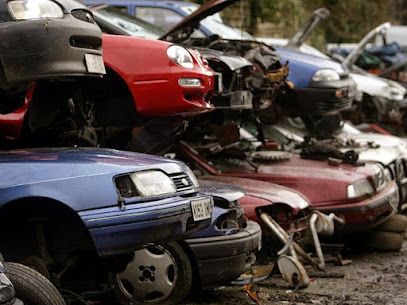
[[[367,231],[384,221],[394,213],[394,201],[398,201],[398,189],[395,182],[388,185],[375,196],[352,204],[318,206],[313,208],[324,213],[335,213],[346,221],[344,230]]]

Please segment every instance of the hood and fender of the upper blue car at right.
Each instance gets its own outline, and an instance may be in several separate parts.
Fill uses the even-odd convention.
[[[315,72],[320,69],[332,69],[340,75],[347,73],[341,64],[328,58],[305,54],[289,48],[276,47],[276,50],[281,56],[282,63],[289,62],[290,73],[288,80],[299,88],[307,87]]]

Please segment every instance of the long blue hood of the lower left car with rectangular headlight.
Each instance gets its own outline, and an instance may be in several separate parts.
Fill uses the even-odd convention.
[[[184,172],[177,161],[146,154],[99,148],[46,148],[0,152],[0,187],[43,181],[160,169]]]

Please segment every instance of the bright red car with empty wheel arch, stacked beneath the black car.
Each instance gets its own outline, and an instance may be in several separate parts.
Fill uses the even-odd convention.
[[[56,145],[114,146],[111,138],[124,133],[129,141],[132,128],[149,117],[213,108],[215,74],[196,51],[163,41],[104,35],[103,57],[104,78],[45,82],[33,88],[20,109],[0,116],[0,136],[16,140],[37,135],[35,145],[49,139]]]

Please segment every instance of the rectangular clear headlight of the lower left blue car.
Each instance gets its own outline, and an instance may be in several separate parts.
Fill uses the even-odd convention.
[[[174,182],[161,171],[144,171],[130,175],[137,193],[142,197],[172,194],[177,191]]]

